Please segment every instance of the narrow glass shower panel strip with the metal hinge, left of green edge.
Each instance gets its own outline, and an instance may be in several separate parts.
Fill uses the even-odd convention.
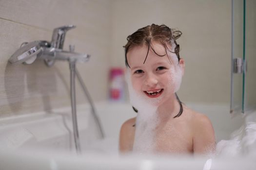
[[[243,74],[234,73],[234,59],[243,59],[243,1],[232,0],[232,59],[230,113],[241,113]]]

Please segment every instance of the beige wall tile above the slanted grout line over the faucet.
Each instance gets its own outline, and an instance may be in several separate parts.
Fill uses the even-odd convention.
[[[66,24],[109,27],[109,0],[1,0],[0,16],[52,30]],[[104,32],[102,32],[104,33]]]

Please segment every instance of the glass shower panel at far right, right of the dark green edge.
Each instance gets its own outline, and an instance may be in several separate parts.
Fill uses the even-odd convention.
[[[244,111],[256,109],[256,0],[245,0],[245,59]]]

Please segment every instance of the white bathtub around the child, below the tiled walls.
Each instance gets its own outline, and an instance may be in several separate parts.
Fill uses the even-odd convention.
[[[205,113],[213,123],[217,142],[228,139],[244,123],[241,116],[230,119],[228,105],[187,104]],[[96,104],[105,139],[87,105],[78,106],[82,154],[77,155],[72,134],[71,109],[34,113],[0,119],[0,170],[255,170],[253,156],[205,157],[172,155],[118,155],[121,124],[136,116],[128,103]],[[208,161],[207,161],[208,159]]]

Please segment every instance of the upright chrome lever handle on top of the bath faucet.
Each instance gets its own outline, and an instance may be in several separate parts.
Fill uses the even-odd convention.
[[[55,28],[53,30],[51,47],[56,49],[63,49],[66,32],[70,29],[76,28],[75,25],[65,25]]]

